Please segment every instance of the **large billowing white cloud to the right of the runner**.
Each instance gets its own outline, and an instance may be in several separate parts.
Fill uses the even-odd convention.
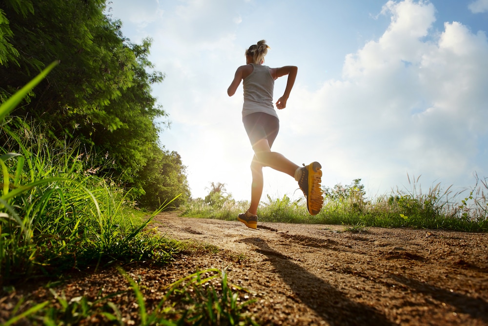
[[[288,123],[297,139],[323,139],[304,146],[322,159],[327,177],[369,177],[381,188],[399,184],[406,173],[461,183],[476,169],[488,172],[476,164],[488,132],[487,37],[452,22],[426,41],[434,11],[423,1],[388,1],[389,27],[346,56],[342,80],[292,94],[290,103],[300,103],[313,121]]]

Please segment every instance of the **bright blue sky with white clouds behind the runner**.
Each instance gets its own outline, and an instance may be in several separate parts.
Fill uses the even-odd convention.
[[[160,141],[181,155],[194,198],[212,182],[250,197],[242,83],[226,90],[263,39],[264,65],[298,66],[273,151],[320,162],[325,187],[360,178],[374,198],[488,177],[488,0],[112,0],[107,14],[131,42],[152,39],[165,74],[152,94],[171,124]],[[285,195],[303,196],[264,168],[262,200]]]

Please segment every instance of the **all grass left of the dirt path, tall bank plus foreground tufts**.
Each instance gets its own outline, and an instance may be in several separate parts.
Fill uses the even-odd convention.
[[[128,199],[130,191],[96,175],[90,153],[76,139],[46,137],[42,125],[8,116],[56,64],[0,106],[0,137],[5,139],[0,152],[0,295],[14,293],[15,285],[26,280],[62,282],[73,272],[116,266],[127,282],[123,292],[136,298],[140,325],[253,324],[244,310],[252,301],[241,301],[239,294],[246,290],[229,284],[225,269],[191,274],[167,286],[159,303],[146,305],[138,283],[121,266],[142,261],[162,266],[195,246],[166,239],[149,227],[180,195],[152,214],[140,213]],[[94,302],[52,289],[51,294],[52,300],[41,303],[22,298],[10,314],[0,314],[0,322],[124,324],[122,307],[110,300],[121,293]]]

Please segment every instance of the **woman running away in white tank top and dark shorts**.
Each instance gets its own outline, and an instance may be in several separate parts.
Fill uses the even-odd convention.
[[[282,154],[271,152],[271,146],[280,129],[278,114],[273,106],[274,81],[288,75],[285,93],[276,102],[277,109],[285,109],[298,68],[293,65],[281,68],[263,65],[268,48],[264,40],[251,45],[245,51],[246,65],[237,68],[234,80],[227,89],[227,94],[232,96],[241,81],[244,81],[243,123],[254,156],[251,161],[251,204],[246,212],[239,214],[238,219],[253,229],[258,226],[257,211],[263,193],[263,167],[267,166],[294,177],[305,195],[307,209],[311,215],[318,214],[324,202],[320,188],[322,166],[318,162],[299,167]]]

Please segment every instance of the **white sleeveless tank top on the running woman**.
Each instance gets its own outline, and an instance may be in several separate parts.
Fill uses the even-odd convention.
[[[274,79],[267,65],[251,64],[252,72],[244,79],[243,117],[264,112],[278,118],[273,105]]]

